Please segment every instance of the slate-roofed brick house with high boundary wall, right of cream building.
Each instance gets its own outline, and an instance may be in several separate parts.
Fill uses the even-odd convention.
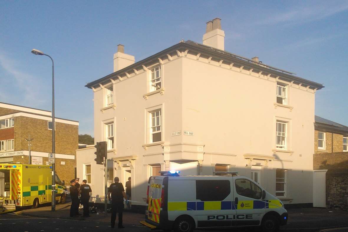
[[[326,206],[347,210],[348,207],[348,127],[315,116],[315,154],[313,169],[327,170]]]

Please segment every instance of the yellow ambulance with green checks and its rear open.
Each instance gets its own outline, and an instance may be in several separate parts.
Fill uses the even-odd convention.
[[[56,200],[64,203],[66,187],[56,175]],[[52,202],[52,166],[0,164],[0,214],[16,207]]]

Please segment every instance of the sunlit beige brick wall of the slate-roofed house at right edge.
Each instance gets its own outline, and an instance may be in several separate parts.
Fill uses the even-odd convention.
[[[325,150],[318,150],[318,132],[325,133]],[[343,151],[343,135],[325,132],[322,130],[315,130],[314,133],[314,153],[331,153]]]

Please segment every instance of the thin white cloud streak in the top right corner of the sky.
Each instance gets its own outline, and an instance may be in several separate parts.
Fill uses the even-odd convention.
[[[314,2],[310,7],[297,6],[287,12],[269,14],[269,17],[256,21],[256,24],[274,25],[278,23],[304,23],[316,21],[348,10],[348,1],[342,2]]]

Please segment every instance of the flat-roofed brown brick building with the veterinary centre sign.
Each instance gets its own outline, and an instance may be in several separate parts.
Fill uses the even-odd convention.
[[[69,183],[75,177],[79,122],[55,118],[56,171]],[[24,106],[0,103],[0,163],[46,165],[52,153],[52,114]]]

